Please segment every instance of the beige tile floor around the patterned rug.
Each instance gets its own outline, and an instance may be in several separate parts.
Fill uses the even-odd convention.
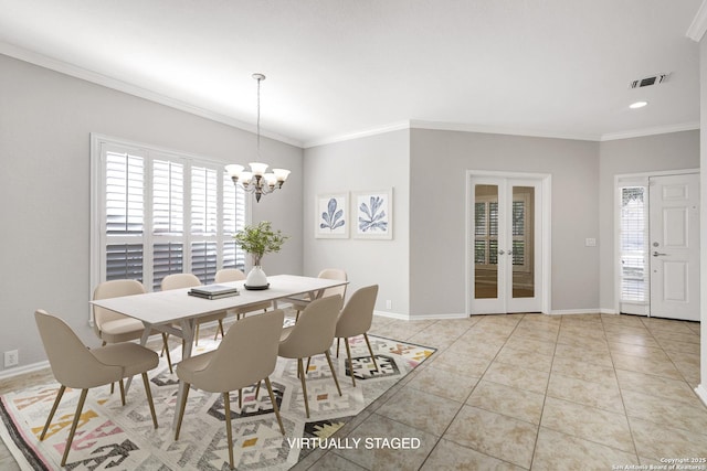
[[[371,333],[439,351],[337,432],[362,439],[358,449],[316,450],[294,469],[611,470],[707,458],[707,408],[694,393],[699,323],[603,314],[377,317]],[[45,379],[40,373],[3,382],[0,394]],[[363,445],[386,437],[418,438],[420,446]],[[4,446],[0,469],[19,469]]]

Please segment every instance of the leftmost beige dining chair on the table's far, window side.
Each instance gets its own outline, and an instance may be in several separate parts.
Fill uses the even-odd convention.
[[[145,286],[137,280],[110,280],[99,283],[93,291],[93,299],[119,298],[123,296],[144,295]],[[103,341],[105,346],[108,343],[128,342],[140,339],[145,332],[145,324],[137,319],[119,314],[115,311],[93,307],[93,330]],[[167,355],[169,372],[172,373],[172,360],[169,356],[169,344],[167,334],[162,332],[163,351]]]

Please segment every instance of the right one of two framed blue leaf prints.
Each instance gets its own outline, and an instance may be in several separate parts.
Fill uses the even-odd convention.
[[[393,190],[359,191],[352,197],[355,238],[393,238]]]

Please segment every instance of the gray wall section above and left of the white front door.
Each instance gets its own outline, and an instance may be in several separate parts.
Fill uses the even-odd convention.
[[[698,169],[699,131],[604,141],[599,146],[599,237],[601,308],[614,311],[614,176]]]

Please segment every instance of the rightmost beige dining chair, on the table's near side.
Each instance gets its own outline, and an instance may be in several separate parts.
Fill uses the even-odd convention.
[[[356,386],[356,377],[354,374],[354,362],[351,358],[351,347],[349,346],[349,339],[357,335],[363,335],[366,339],[366,345],[368,345],[368,352],[371,354],[373,366],[378,370],[378,363],[376,363],[376,355],[373,355],[373,349],[368,340],[368,331],[371,328],[373,321],[373,309],[376,308],[376,297],[378,296],[378,285],[367,286],[360,288],[351,295],[346,306],[339,314],[339,319],[336,322],[336,356],[339,356],[339,341],[344,339],[346,344],[346,356],[349,362],[349,372],[351,373],[351,382]]]

